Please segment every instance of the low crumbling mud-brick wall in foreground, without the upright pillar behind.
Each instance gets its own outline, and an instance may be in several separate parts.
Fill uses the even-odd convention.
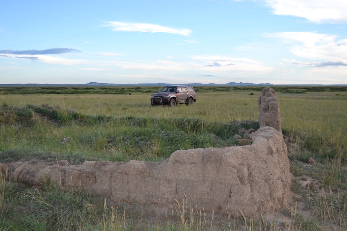
[[[280,209],[287,204],[289,160],[282,134],[264,126],[253,143],[227,148],[179,150],[163,162],[107,161],[70,166],[59,163],[15,162],[3,165],[13,180],[37,186],[42,177],[67,189],[83,188],[112,202],[172,209],[186,195],[188,206],[207,212],[231,213],[239,208],[249,215]]]

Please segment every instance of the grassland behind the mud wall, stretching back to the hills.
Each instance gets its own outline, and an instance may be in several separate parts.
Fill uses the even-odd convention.
[[[0,162],[32,158],[67,159],[76,164],[85,160],[162,161],[179,149],[237,145],[232,138],[237,127],[228,122],[256,121],[262,88],[195,87],[196,103],[172,108],[151,106],[151,93],[161,87],[0,88]],[[324,166],[319,174],[315,172],[317,179],[327,187],[347,189],[347,87],[273,88],[280,104],[282,131],[295,144],[288,145],[293,174],[300,176],[297,161],[312,157]],[[66,137],[69,138],[63,140]],[[336,161],[331,164],[329,158]],[[6,185],[0,186],[0,230],[30,230],[33,226],[23,225],[18,217],[19,220],[9,218],[15,214],[3,207],[6,203],[26,202],[8,194],[7,198]],[[347,194],[344,196],[342,208],[346,210]],[[345,210],[338,214],[343,220],[340,227],[347,227]],[[37,222],[44,220],[35,219],[32,221],[38,226]],[[19,228],[10,229],[5,223]],[[52,227],[56,223],[48,224]],[[324,227],[322,224],[318,226]],[[155,230],[188,230],[169,226],[158,225]],[[37,230],[50,230],[49,227]],[[96,226],[90,227],[93,230]],[[68,222],[60,228],[78,230]],[[115,230],[125,228],[123,224]]]

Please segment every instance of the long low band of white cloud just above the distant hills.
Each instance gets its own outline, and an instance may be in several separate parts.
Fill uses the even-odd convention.
[[[89,67],[81,68],[88,71],[102,71],[105,66],[117,66],[124,70],[140,70],[140,71],[206,71],[208,73],[226,73],[231,72],[239,74],[261,74],[274,71],[270,66],[265,66],[259,61],[247,58],[231,58],[217,55],[196,55],[190,56],[191,61],[175,62],[171,60],[171,56],[167,60],[154,61],[118,61],[118,60],[90,60],[90,59],[67,59],[50,55],[13,55],[8,54],[5,58],[23,57],[25,59],[33,59],[37,62],[62,65],[88,64]],[[214,64],[214,65],[213,65]],[[103,68],[99,68],[102,66]]]

